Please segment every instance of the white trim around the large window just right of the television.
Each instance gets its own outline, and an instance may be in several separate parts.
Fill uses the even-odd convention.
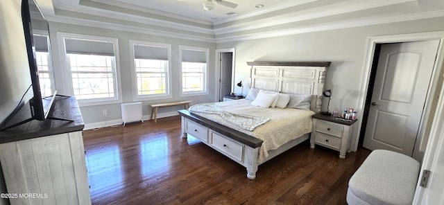
[[[122,95],[121,95],[121,80],[120,80],[120,60],[119,60],[119,40],[117,38],[112,37],[101,37],[101,36],[95,36],[95,35],[81,35],[81,34],[74,34],[74,33],[57,33],[57,40],[58,45],[62,49],[62,52],[60,52],[60,62],[62,63],[62,69],[63,69],[63,79],[65,81],[65,93],[68,93],[69,96],[74,96],[74,87],[72,82],[72,76],[71,76],[71,69],[69,68],[69,60],[67,60],[67,54],[66,54],[66,48],[65,48],[65,37],[69,38],[78,38],[78,39],[91,39],[91,40],[98,40],[98,41],[107,41],[112,42],[114,44],[114,63],[115,63],[115,69],[116,69],[116,87],[115,89],[115,96],[114,98],[108,98],[108,99],[78,99],[78,105],[79,107],[87,107],[87,106],[94,106],[94,105],[109,105],[109,104],[116,104],[116,103],[122,103]]]

